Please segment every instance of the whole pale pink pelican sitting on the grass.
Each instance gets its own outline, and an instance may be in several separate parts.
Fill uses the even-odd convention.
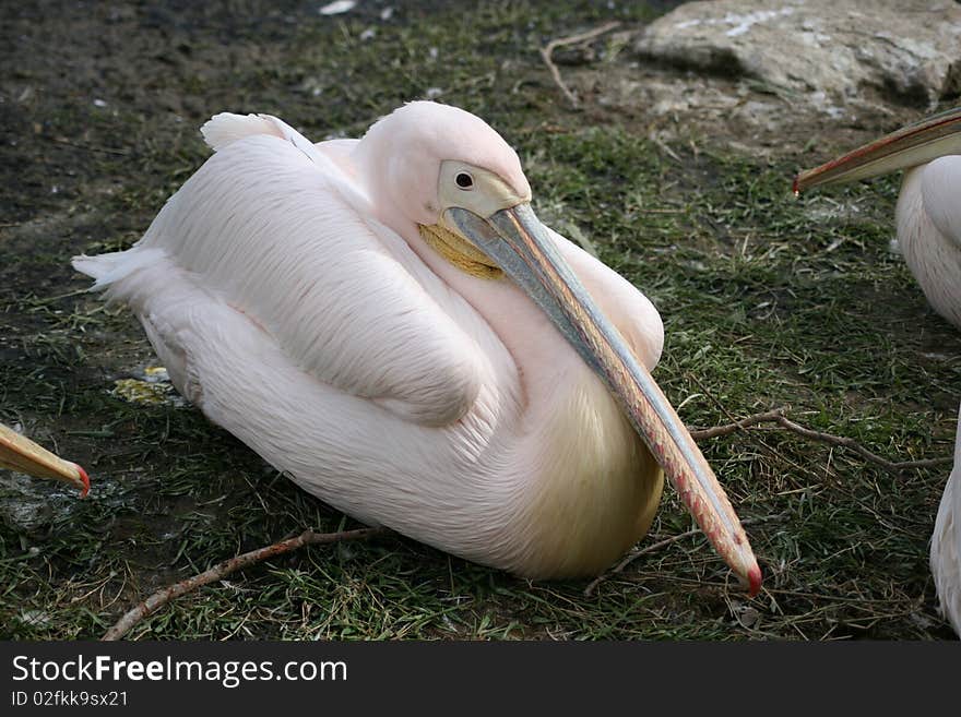
[[[414,101],[359,140],[226,112],[201,132],[214,153],[144,236],[73,265],[210,420],[363,523],[531,578],[607,567],[666,473],[758,591],[651,378],[657,311],[537,219],[487,123]]]

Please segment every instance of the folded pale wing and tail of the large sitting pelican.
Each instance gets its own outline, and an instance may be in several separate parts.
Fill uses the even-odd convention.
[[[371,218],[340,162],[278,123],[239,118],[221,127],[216,154],[135,247],[74,266],[137,311],[149,287],[164,290],[157,272],[176,274],[178,285],[186,275],[195,297],[170,298],[186,311],[226,303],[315,379],[405,419],[456,420],[479,391],[480,351],[411,271],[419,260],[406,242]],[[436,279],[426,285],[446,290]],[[149,333],[165,334],[151,336],[154,344],[170,344],[175,356],[177,326],[164,315],[153,328],[141,318]]]

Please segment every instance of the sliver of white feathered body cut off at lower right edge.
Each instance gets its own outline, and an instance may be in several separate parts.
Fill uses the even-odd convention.
[[[954,469],[938,506],[930,565],[941,613],[961,635],[961,409],[954,441]]]

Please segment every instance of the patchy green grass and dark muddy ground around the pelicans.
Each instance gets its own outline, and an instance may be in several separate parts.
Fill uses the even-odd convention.
[[[83,463],[95,490],[79,502],[0,475],[0,636],[96,637],[149,591],[225,558],[353,525],[193,408],[111,393],[156,359],[130,314],[82,294],[69,267],[74,253],[139,238],[205,158],[197,128],[223,109],[274,112],[320,139],[357,135],[440,93],[519,148],[545,220],[590,237],[651,297],[666,328],[655,375],[689,423],[787,404],[796,420],[891,459],[950,454],[961,337],[889,252],[897,178],[795,201],[790,178],[807,158],[759,159],[710,136],[674,143],[671,156],[629,115],[563,107],[536,47],[612,15],[637,25],[656,8],[415,3],[383,22],[369,3],[331,19],[293,2],[176,17],[62,4],[41,17],[8,9],[0,23],[0,52],[32,58],[0,85],[19,110],[0,115],[0,420]],[[38,45],[49,51],[27,52]],[[951,636],[927,566],[946,469],[891,476],[780,432],[702,447],[756,521],[767,583],[755,600],[700,535],[591,597],[586,582],[530,583],[389,537],[246,570],[131,636]],[[690,524],[668,492],[641,546]]]

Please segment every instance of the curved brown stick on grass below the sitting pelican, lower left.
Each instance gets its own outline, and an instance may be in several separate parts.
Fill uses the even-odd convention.
[[[202,573],[194,575],[193,577],[188,577],[186,581],[180,581],[179,583],[175,583],[169,587],[157,590],[146,600],[144,600],[135,608],[128,611],[122,618],[120,618],[112,628],[104,633],[102,640],[120,640],[138,622],[140,622],[147,616],[153,614],[159,608],[167,605],[170,600],[174,600],[181,595],[186,595],[187,593],[190,593],[191,590],[194,590],[203,585],[209,585],[210,583],[215,583],[216,581],[223,579],[230,573],[241,567],[246,567],[247,565],[250,565],[252,563],[257,563],[262,560],[269,560],[270,558],[274,558],[276,555],[282,555],[286,552],[290,552],[292,550],[302,548],[304,546],[330,542],[345,542],[347,540],[363,540],[366,538],[384,535],[387,533],[389,533],[387,528],[359,528],[357,530],[343,530],[340,533],[315,533],[313,530],[305,530],[296,538],[288,538],[287,540],[275,542],[274,545],[266,546],[265,548],[259,548],[257,550],[251,550],[250,552],[245,552],[242,555],[237,555],[236,558],[230,558],[229,560],[225,560],[222,563],[217,563],[210,570],[205,570]]]

